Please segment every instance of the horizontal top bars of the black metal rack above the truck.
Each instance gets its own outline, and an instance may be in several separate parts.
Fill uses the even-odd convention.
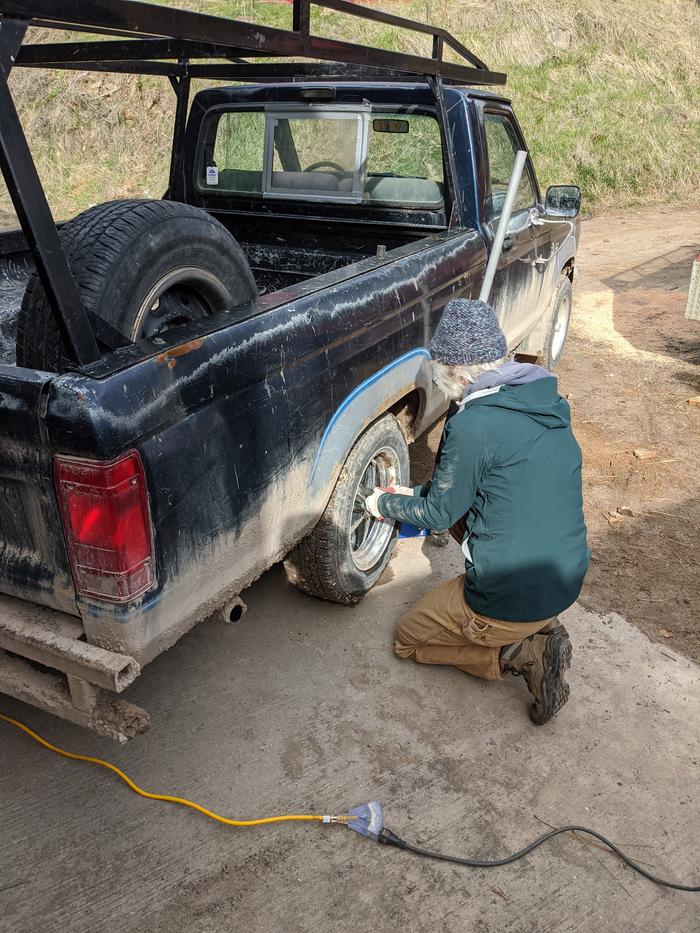
[[[430,57],[313,35],[311,6],[396,26],[432,39]],[[416,23],[348,0],[293,0],[292,29],[278,29],[135,0],[0,0],[0,15],[51,29],[105,34],[110,39],[29,44],[15,65],[165,75],[212,80],[411,80],[431,75],[447,83],[502,85],[506,76],[439,26]],[[118,37],[118,38],[114,38]],[[445,61],[452,50],[458,64]],[[250,58],[316,59],[313,63],[252,63]],[[192,63],[192,59],[226,59]],[[328,64],[326,64],[328,63]]]

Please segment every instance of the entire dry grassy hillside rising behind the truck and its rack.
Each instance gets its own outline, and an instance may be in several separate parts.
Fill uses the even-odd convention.
[[[177,4],[279,26],[291,7],[248,0]],[[423,0],[384,2],[437,22],[497,70],[543,187],[574,182],[585,210],[697,202],[700,9],[694,0]],[[315,9],[313,29],[428,53],[419,38]],[[55,35],[55,34],[54,34]],[[35,39],[51,34],[37,30]],[[166,79],[16,69],[23,123],[58,217],[165,188],[174,95]],[[12,222],[3,190],[0,222]]]

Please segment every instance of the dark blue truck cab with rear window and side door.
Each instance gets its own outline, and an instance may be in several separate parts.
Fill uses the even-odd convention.
[[[502,96],[446,87],[444,103],[445,131],[424,83],[202,91],[174,194],[236,235],[263,293],[438,231],[473,229],[488,244],[515,154],[527,145]],[[494,290],[511,346],[541,321],[552,236],[567,231],[537,225],[545,213],[528,157]],[[573,271],[577,227],[569,233],[563,262]]]

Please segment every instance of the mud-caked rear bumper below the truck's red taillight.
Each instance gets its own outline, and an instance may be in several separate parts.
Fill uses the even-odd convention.
[[[0,595],[0,693],[126,742],[149,725],[145,710],[118,696],[141,669],[84,638],[74,616]]]

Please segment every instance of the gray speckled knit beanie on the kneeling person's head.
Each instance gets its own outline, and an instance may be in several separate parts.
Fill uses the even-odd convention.
[[[491,305],[466,298],[448,301],[430,341],[432,358],[448,366],[493,363],[507,349]]]

